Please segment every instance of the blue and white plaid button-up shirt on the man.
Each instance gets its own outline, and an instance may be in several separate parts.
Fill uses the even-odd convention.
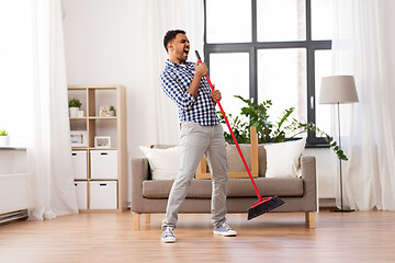
[[[201,79],[196,99],[187,92],[195,75],[194,67],[194,62],[179,65],[167,60],[160,75],[161,88],[176,102],[180,123],[192,121],[203,126],[217,125],[219,119],[207,80]]]

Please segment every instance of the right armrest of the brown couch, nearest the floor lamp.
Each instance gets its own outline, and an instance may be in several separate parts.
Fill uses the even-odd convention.
[[[302,179],[304,181],[304,195],[306,198],[306,210],[317,210],[317,175],[316,175],[316,159],[313,156],[302,156]]]

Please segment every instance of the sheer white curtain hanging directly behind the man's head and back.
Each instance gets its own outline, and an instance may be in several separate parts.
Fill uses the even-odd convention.
[[[163,36],[169,30],[184,30],[191,42],[190,61],[196,61],[194,50],[203,57],[204,12],[202,0],[142,0],[144,1],[146,23],[145,43],[147,87],[147,103],[151,116],[153,144],[178,144],[179,126],[176,104],[161,91],[159,75],[165,68],[167,53],[163,47]]]

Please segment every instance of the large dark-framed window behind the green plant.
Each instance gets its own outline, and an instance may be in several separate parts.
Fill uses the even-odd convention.
[[[272,100],[272,117],[293,106],[293,117],[330,132],[330,107],[316,98],[330,75],[331,7],[332,0],[205,0],[205,62],[225,111],[239,114],[236,94]],[[307,145],[325,139],[308,134]]]

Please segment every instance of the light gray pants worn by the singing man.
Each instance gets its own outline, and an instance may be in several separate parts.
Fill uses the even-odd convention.
[[[176,228],[178,210],[185,199],[191,180],[204,153],[212,173],[212,224],[217,227],[226,221],[228,178],[223,128],[221,125],[201,126],[194,122],[182,123],[181,147],[180,169],[170,191],[162,229]]]

